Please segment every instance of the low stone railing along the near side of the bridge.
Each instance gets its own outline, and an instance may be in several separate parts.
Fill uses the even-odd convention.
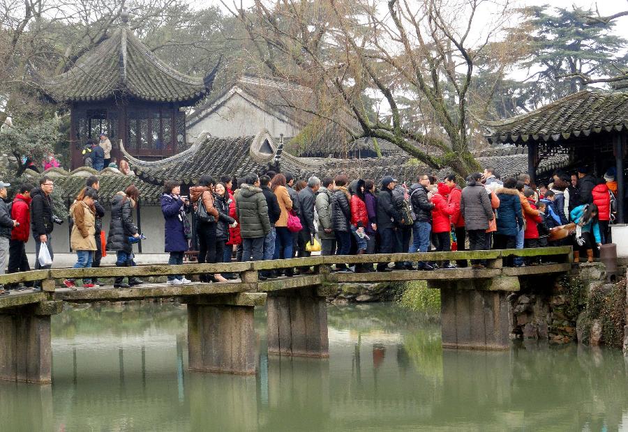
[[[509,256],[534,257],[544,256],[554,263],[566,264],[573,261],[573,253],[570,246],[562,247],[543,247],[534,249],[502,249],[489,251],[458,251],[458,252],[415,252],[403,254],[370,254],[370,255],[332,255],[332,256],[309,256],[305,258],[278,259],[270,261],[253,261],[253,262],[232,262],[232,263],[215,263],[215,264],[151,264],[137,265],[133,267],[100,267],[100,268],[52,268],[49,270],[31,270],[29,272],[11,273],[8,275],[0,275],[0,284],[16,284],[24,282],[39,282],[43,291],[54,291],[59,279],[83,279],[93,277],[163,277],[168,275],[201,275],[201,274],[218,274],[218,273],[237,273],[239,281],[229,281],[230,292],[234,290],[247,291],[248,288],[254,288],[251,284],[259,282],[258,272],[260,270],[284,270],[289,268],[313,268],[314,275],[321,273],[329,273],[331,265],[335,264],[364,264],[364,263],[394,263],[403,261],[461,261],[461,260],[485,260],[487,263],[486,270],[495,270],[502,268],[502,261]],[[543,272],[543,265],[537,266],[538,272]],[[491,272],[486,270],[472,270],[470,268],[447,270],[453,277],[457,272],[474,272],[475,277],[492,277]],[[417,270],[414,270],[417,271]],[[509,275],[518,275],[523,273],[534,273],[534,270],[526,268],[508,268],[503,269]],[[420,276],[417,272],[417,277]],[[425,272],[427,273],[427,272]],[[389,276],[382,274],[380,277],[384,280]],[[463,275],[460,275],[463,276]],[[468,277],[468,275],[465,275]],[[290,279],[290,278],[288,278]],[[358,275],[349,273],[337,275],[338,281],[349,281],[352,279],[359,280]],[[284,279],[282,279],[284,280]],[[264,282],[271,287],[272,280]],[[281,282],[285,284],[285,282]],[[237,286],[235,284],[238,284]],[[212,284],[220,286],[221,284]],[[140,286],[141,288],[141,286]]]

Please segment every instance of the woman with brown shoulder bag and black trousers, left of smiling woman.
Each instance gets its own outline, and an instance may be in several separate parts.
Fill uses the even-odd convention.
[[[198,185],[190,187],[190,201],[196,203],[195,208],[204,206],[208,220],[196,220],[196,235],[198,238],[198,263],[216,262],[216,221],[218,221],[218,210],[214,206],[214,178],[209,174],[203,174]],[[198,210],[197,210],[198,211]],[[213,275],[200,275],[201,282],[215,282]]]

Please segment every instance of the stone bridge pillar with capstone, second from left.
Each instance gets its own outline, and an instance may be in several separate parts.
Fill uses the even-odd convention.
[[[253,375],[253,308],[264,304],[265,300],[265,293],[240,293],[186,300],[189,369]]]

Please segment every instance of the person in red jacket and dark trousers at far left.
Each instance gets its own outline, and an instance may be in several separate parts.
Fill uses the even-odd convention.
[[[31,183],[23,183],[17,190],[13,204],[11,206],[11,219],[17,224],[11,231],[9,242],[9,263],[8,273],[27,272],[31,270],[26,254],[26,244],[29,241],[31,231],[31,190],[35,188]],[[15,289],[22,290],[32,286],[32,282],[15,286]]]

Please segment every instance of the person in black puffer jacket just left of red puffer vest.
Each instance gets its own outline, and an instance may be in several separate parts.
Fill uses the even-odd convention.
[[[351,251],[351,195],[347,190],[348,179],[345,174],[334,178],[334,193],[331,194],[331,226],[338,242],[336,255],[349,255]],[[346,264],[336,264],[336,270],[350,272]]]

